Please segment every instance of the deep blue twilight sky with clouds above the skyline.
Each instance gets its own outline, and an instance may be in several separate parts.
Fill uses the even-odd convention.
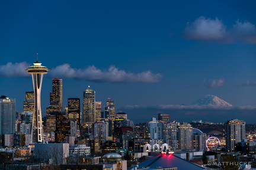
[[[256,1],[1,1],[0,94],[32,91],[24,71],[47,66],[63,101],[82,98],[124,106],[191,104],[213,94],[234,106],[256,105]],[[130,110],[130,112],[132,112]],[[133,115],[135,113],[129,113]],[[224,120],[223,120],[224,121]]]

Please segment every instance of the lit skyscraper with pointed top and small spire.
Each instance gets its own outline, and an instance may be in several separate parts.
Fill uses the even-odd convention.
[[[92,127],[95,122],[95,91],[88,86],[83,96],[83,125]]]

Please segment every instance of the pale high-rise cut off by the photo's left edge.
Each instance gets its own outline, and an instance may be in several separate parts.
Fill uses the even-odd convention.
[[[11,135],[15,132],[15,99],[0,97],[0,135]]]

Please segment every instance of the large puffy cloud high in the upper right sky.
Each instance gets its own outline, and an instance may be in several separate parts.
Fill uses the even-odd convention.
[[[218,18],[199,17],[194,22],[188,22],[184,30],[184,38],[207,42],[244,42],[256,43],[256,27],[250,22],[236,21],[232,28],[227,28]]]

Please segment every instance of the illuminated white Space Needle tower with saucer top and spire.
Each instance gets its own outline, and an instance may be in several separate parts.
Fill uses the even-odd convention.
[[[43,81],[43,74],[46,74],[49,69],[47,67],[41,66],[38,61],[34,62],[34,66],[28,67],[25,71],[31,74],[33,87],[34,87],[34,113],[33,113],[33,123],[32,123],[32,143],[43,142],[43,125],[41,117],[41,84]]]

